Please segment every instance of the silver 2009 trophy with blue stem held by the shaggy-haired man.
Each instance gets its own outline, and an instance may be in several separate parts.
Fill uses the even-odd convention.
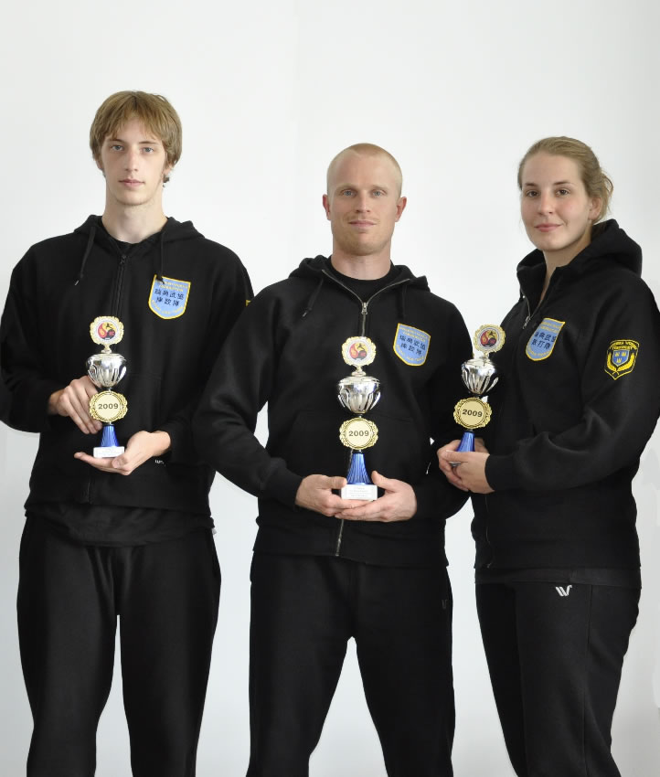
[[[122,394],[111,389],[125,375],[126,359],[110,349],[122,339],[123,324],[112,315],[101,315],[91,322],[90,336],[98,346],[103,346],[100,354],[94,354],[87,360],[87,374],[91,382],[97,389],[103,389],[90,399],[90,416],[103,423],[101,444],[94,448],[94,458],[107,459],[123,453],[112,424],[126,415],[128,403]]]

